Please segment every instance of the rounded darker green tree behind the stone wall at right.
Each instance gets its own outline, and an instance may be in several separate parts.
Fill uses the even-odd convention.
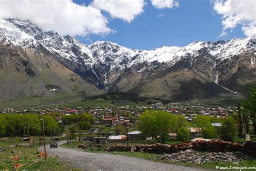
[[[237,135],[237,127],[232,117],[224,120],[223,125],[219,129],[220,138],[223,140],[232,141]]]

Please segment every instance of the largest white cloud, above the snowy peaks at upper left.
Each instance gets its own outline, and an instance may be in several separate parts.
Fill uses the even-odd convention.
[[[0,18],[29,19],[43,30],[53,30],[60,35],[112,32],[107,19],[92,6],[73,3],[71,0],[0,0]]]

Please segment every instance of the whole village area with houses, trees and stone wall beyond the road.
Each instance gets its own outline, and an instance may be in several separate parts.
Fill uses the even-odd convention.
[[[134,105],[118,101],[108,106],[44,107],[43,111],[4,108],[0,114],[5,127],[2,134],[13,145],[0,148],[0,153],[39,147],[38,158],[48,160],[45,154],[62,154],[68,148],[69,155],[82,149],[82,156],[107,153],[174,165],[214,168],[215,162],[224,162],[236,167],[254,161],[256,154],[253,123],[248,118],[248,125],[241,124],[239,114],[239,105],[187,102]],[[17,163],[24,166],[19,160]]]

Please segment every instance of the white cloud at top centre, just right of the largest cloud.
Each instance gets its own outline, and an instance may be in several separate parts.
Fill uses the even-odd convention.
[[[93,0],[90,5],[109,12],[112,18],[123,19],[130,23],[144,12],[143,7],[146,2],[144,0]]]

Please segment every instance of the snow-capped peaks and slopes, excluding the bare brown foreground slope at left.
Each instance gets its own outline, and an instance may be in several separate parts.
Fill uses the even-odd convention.
[[[0,36],[2,47],[25,52],[31,71],[36,69],[28,51],[43,53],[105,92],[134,91],[185,100],[204,97],[208,91],[245,93],[256,83],[256,35],[146,51],[112,42],[84,45],[76,38],[43,31],[29,21],[1,19]],[[188,92],[190,95],[184,93],[193,86],[197,88]]]

